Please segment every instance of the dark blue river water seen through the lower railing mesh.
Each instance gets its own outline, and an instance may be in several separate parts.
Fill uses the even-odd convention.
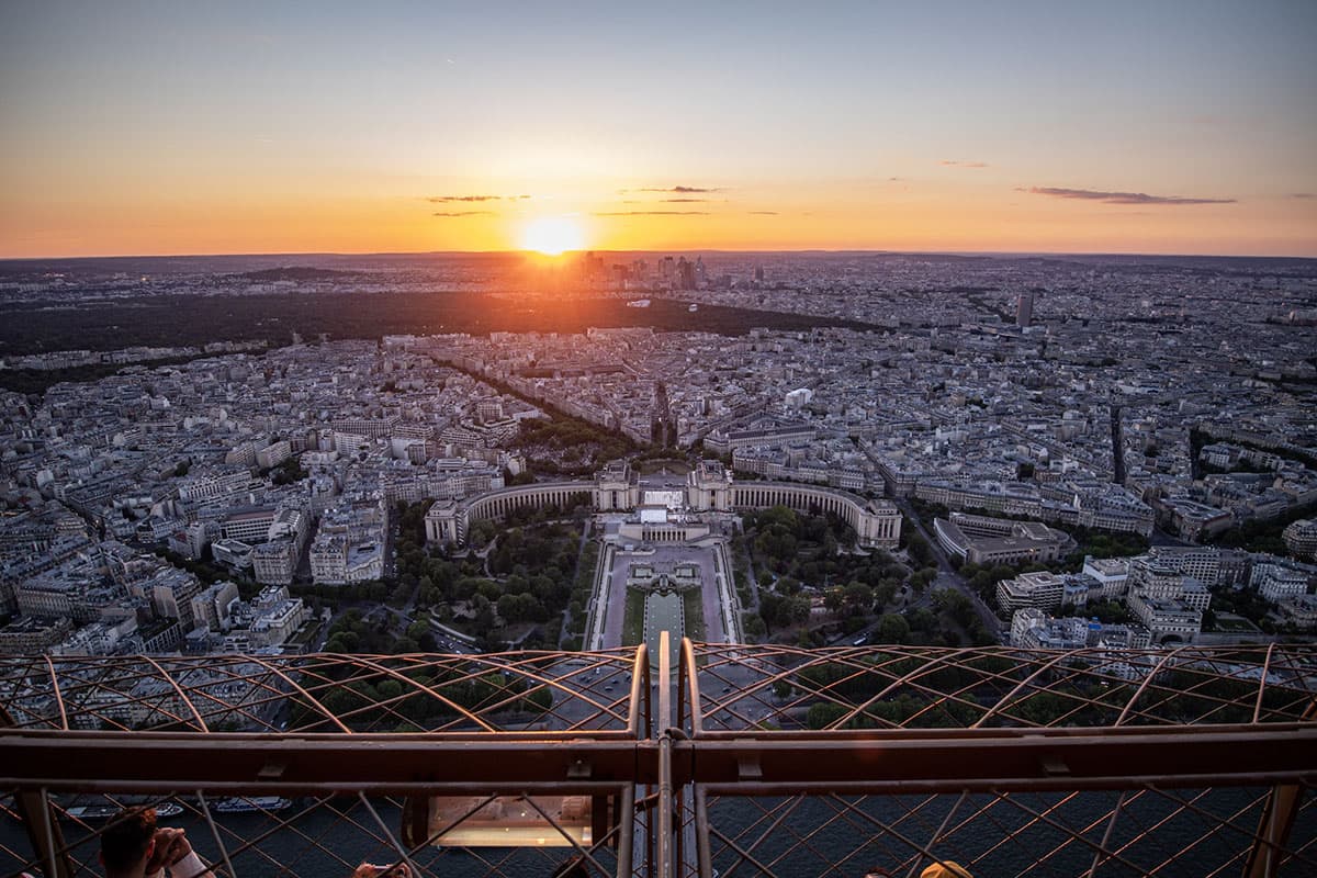
[[[1256,810],[1247,808],[1250,792],[1242,790],[1218,790],[1195,802],[1208,815],[1234,815],[1245,808],[1234,823],[1241,829],[1251,832],[1256,827]],[[1181,798],[1193,800],[1192,792],[1181,791]],[[785,819],[778,820],[781,799],[722,799],[710,804],[710,821],[718,832],[730,836],[741,846],[755,844],[755,858],[784,877],[836,875],[859,878],[873,866],[896,867],[910,853],[911,848],[900,841],[897,835],[910,841],[926,842],[946,823],[955,828],[938,853],[947,858],[973,860],[986,854],[976,867],[976,878],[984,875],[1081,875],[1093,862],[1093,848],[1072,841],[1059,856],[1039,864],[1039,858],[1060,845],[1068,833],[1048,825],[1048,820],[1083,831],[1085,839],[1097,844],[1108,829],[1108,813],[1115,802],[1115,792],[1080,794],[1058,806],[1062,796],[1023,794],[1015,796],[1021,806],[1034,812],[1047,812],[1047,820],[1039,820],[1023,808],[997,802],[984,795],[939,796],[927,803],[918,813],[911,811],[922,803],[922,796],[897,796],[888,799],[865,799],[855,810],[848,810],[842,800],[809,799],[798,804]],[[853,800],[847,800],[852,803]],[[959,802],[959,803],[957,803]],[[341,808],[349,808],[353,800],[344,798]],[[309,804],[302,800],[283,812],[288,817],[299,808]],[[373,802],[381,819],[391,832],[400,823],[399,808],[383,800]],[[1054,807],[1055,806],[1055,807]],[[955,811],[952,812],[952,808]],[[1048,811],[1048,808],[1052,808]],[[1125,846],[1122,857],[1137,867],[1121,862],[1108,862],[1100,870],[1101,877],[1130,877],[1144,874],[1146,870],[1169,861],[1158,875],[1202,875],[1227,862],[1245,845],[1245,836],[1235,829],[1225,828],[1210,833],[1209,821],[1192,811],[1181,811],[1167,817],[1172,807],[1167,799],[1154,792],[1146,792],[1133,802],[1126,802],[1121,819],[1117,821],[1109,846]],[[948,812],[951,819],[948,820]],[[258,842],[259,853],[246,852],[233,857],[238,875],[313,875],[333,878],[346,875],[350,866],[328,856],[317,845],[332,848],[342,861],[356,865],[361,861],[389,862],[389,850],[367,835],[378,832],[369,811],[357,804],[350,810],[352,817],[362,828],[353,827],[327,806],[312,810],[298,819],[295,829],[282,829]],[[972,817],[972,819],[969,819]],[[831,821],[830,821],[831,820]],[[873,820],[888,824],[894,832],[878,833]],[[217,821],[225,835],[230,850],[244,840],[257,839],[271,828],[271,821],[263,815],[219,815]],[[963,821],[964,825],[961,825]],[[1300,820],[1296,825],[1296,839],[1312,839],[1313,820]],[[188,837],[207,860],[217,860],[217,846],[205,820],[195,813],[162,819],[162,824],[187,829]],[[755,825],[752,825],[755,824]],[[67,839],[74,831],[65,824]],[[1144,832],[1148,829],[1155,831]],[[229,835],[232,833],[232,835]],[[1143,836],[1143,837],[1141,837]],[[1202,840],[1208,836],[1206,840]],[[689,835],[687,835],[689,837]],[[1195,844],[1197,842],[1197,844]],[[14,874],[20,861],[13,852],[28,850],[26,836],[13,820],[0,821],[0,874]],[[749,864],[732,869],[735,856],[714,841],[714,865],[722,875],[757,874]],[[95,866],[96,845],[87,841],[78,846],[76,856]],[[511,875],[515,878],[549,875],[553,867],[566,858],[566,852],[556,850],[508,850],[508,849],[444,849],[427,852],[419,862],[436,875],[445,878],[466,878],[474,875]],[[611,854],[605,853],[601,861],[612,869]],[[1234,874],[1242,864],[1227,871]],[[99,867],[79,874],[101,874]],[[900,873],[903,874],[903,873]],[[1285,874],[1285,873],[1283,873]],[[1293,871],[1292,874],[1300,874]]]

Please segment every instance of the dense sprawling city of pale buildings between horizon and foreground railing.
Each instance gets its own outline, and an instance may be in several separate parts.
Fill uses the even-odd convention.
[[[315,291],[369,312],[403,275],[403,295],[481,296],[493,325],[537,295],[520,284],[548,283],[585,313],[611,303],[643,323],[662,303],[691,326],[335,338],[252,317],[245,337],[198,345],[11,342],[0,383],[28,392],[0,404],[0,650],[619,646],[644,625],[603,623],[627,588],[590,567],[639,569],[657,545],[703,557],[687,588],[710,595],[685,624],[730,642],[1317,631],[1310,262],[287,261],[134,265],[140,279],[11,263],[0,283],[9,308],[74,313],[116,290],[240,312]],[[701,332],[714,307],[745,323]],[[756,325],[768,312],[819,325]],[[701,499],[709,480],[736,494]],[[759,482],[802,490],[739,499]],[[570,490],[539,490],[553,486]],[[901,523],[872,540],[874,516]]]

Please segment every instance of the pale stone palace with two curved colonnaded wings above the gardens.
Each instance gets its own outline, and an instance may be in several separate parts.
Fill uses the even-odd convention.
[[[674,495],[680,494],[680,498]],[[428,542],[466,541],[473,521],[502,521],[522,508],[569,508],[586,502],[595,512],[624,512],[645,505],[672,505],[674,499],[694,512],[735,512],[785,505],[813,513],[832,513],[855,529],[865,548],[896,548],[901,540],[901,512],[886,500],[871,500],[849,491],[794,482],[735,482],[718,461],[703,461],[681,487],[651,487],[624,461],[602,469],[591,482],[543,482],[487,491],[466,500],[440,500],[425,513]]]

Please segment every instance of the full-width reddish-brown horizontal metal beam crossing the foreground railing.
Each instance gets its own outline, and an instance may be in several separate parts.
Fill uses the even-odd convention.
[[[8,788],[265,795],[587,792],[619,783],[703,783],[755,795],[1252,786],[1317,782],[1317,727],[976,729],[786,740],[759,732],[635,741],[9,731],[0,732],[0,786]]]

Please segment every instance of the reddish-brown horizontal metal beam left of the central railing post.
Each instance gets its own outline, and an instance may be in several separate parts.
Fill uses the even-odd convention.
[[[253,795],[591,792],[657,782],[651,741],[427,740],[400,735],[0,733],[0,786]]]

